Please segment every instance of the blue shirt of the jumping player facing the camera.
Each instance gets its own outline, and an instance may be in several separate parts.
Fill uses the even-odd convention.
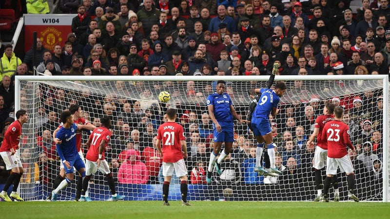
[[[207,97],[207,106],[214,106],[214,116],[218,123],[231,122],[233,123],[233,115],[230,111],[230,105],[233,105],[229,94],[213,93]]]

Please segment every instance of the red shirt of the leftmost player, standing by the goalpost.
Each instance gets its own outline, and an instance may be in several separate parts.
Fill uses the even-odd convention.
[[[11,151],[11,148],[16,150],[19,146],[21,138],[21,124],[19,120],[14,121],[9,125],[7,131],[4,134],[4,140],[1,143],[0,152]]]

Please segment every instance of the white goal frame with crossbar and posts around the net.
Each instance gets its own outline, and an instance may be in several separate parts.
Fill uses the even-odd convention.
[[[180,76],[179,76],[180,77]],[[269,75],[250,76],[181,76],[186,81],[268,81]],[[15,111],[20,110],[20,83],[21,81],[177,81],[177,76],[81,76],[81,75],[16,75],[15,76]],[[276,75],[275,81],[331,81],[331,80],[383,80],[383,202],[389,202],[389,75]],[[385,136],[386,135],[386,136]]]

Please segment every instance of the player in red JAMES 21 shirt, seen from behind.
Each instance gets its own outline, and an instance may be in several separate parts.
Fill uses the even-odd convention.
[[[188,154],[184,130],[180,124],[175,122],[177,117],[175,109],[168,109],[166,116],[168,122],[158,128],[156,142],[158,152],[162,157],[163,205],[170,205],[168,203],[169,183],[171,183],[174,169],[176,176],[180,179],[181,205],[191,205],[187,201],[187,167],[184,158],[187,158]]]

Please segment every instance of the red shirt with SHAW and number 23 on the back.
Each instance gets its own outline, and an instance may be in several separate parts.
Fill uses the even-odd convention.
[[[322,138],[327,139],[328,157],[330,158],[342,158],[347,155],[347,146],[353,149],[350,140],[350,128],[339,120],[333,120],[325,124]]]

